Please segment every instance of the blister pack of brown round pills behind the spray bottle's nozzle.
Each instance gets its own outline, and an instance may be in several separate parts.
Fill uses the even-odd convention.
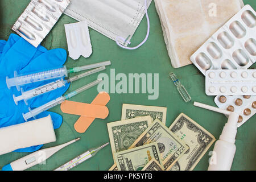
[[[220,109],[240,114],[238,127],[256,113],[256,96],[216,96],[214,102]]]

